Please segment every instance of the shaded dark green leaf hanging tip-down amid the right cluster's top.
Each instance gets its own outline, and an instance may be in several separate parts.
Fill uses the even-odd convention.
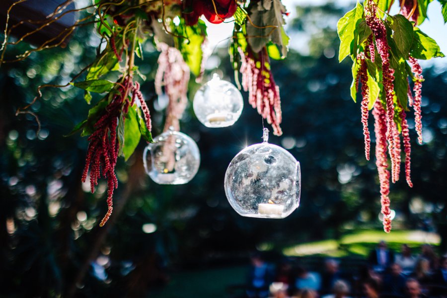
[[[401,14],[388,16],[387,20],[391,22],[391,29],[394,32],[392,38],[396,43],[397,49],[404,59],[408,59],[413,43],[413,25]]]

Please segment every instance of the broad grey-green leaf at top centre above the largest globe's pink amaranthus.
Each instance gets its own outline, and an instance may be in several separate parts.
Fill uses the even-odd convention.
[[[251,22],[247,22],[245,26],[248,44],[253,52],[259,53],[271,41],[281,48],[282,57],[287,56],[289,37],[283,28],[286,23],[284,11],[286,7],[281,0],[259,1],[251,7]]]

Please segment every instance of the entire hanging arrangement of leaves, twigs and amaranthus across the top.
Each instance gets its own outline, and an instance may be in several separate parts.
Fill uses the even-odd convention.
[[[280,90],[270,66],[270,59],[285,59],[288,53],[289,37],[284,29],[284,16],[288,12],[281,0],[93,0],[91,5],[78,9],[67,8],[74,2],[67,0],[55,7],[43,21],[23,20],[8,24],[14,6],[24,1],[16,1],[7,11],[0,65],[21,61],[33,52],[60,46],[77,27],[95,24],[101,38],[96,59],[67,85],[57,86],[72,84],[84,89],[87,104],[91,103],[91,93],[105,94],[72,132],[80,131],[89,142],[81,180],[89,180],[92,192],[99,178],[107,180],[108,211],[101,226],[112,214],[113,192],[118,187],[115,175],[118,156],[128,159],[141,138],[148,143],[153,142],[151,116],[138,82],[146,80],[146,77],[140,73],[136,63],[137,59],[143,58],[142,48],[146,42],[153,42],[161,52],[155,89],[158,95],[164,93],[169,98],[163,131],[178,131],[179,119],[188,101],[188,81],[191,75],[200,80],[209,52],[207,26],[202,16],[214,24],[233,22],[229,55],[236,84],[239,89],[248,91],[249,104],[272,126],[273,133],[282,135]],[[436,42],[417,27],[426,18],[430,1],[401,0],[399,14],[392,16],[389,10],[393,2],[366,0],[364,5],[358,2],[337,25],[341,41],[339,60],[350,56],[353,61],[351,96],[354,100],[361,84],[367,159],[371,146],[368,116],[369,110],[373,110],[381,211],[387,232],[391,229],[389,180],[391,178],[395,182],[399,179],[400,135],[403,138],[406,180],[412,186],[406,120],[409,107],[414,109],[418,142],[422,144],[421,86],[424,79],[418,59],[444,56]],[[440,2],[447,21],[447,2]],[[10,46],[74,12],[81,12],[82,18],[59,35],[14,59],[5,59]],[[11,41],[13,30],[24,24],[32,24],[35,29],[23,36],[15,36],[15,41]],[[116,81],[106,79],[111,72],[119,73]],[[41,97],[41,89],[47,86],[54,85],[40,86],[34,101]],[[17,114],[32,114],[28,107],[19,109]]]

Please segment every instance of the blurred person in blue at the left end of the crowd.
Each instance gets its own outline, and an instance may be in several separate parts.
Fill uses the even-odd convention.
[[[266,298],[269,295],[269,286],[274,278],[273,268],[267,264],[261,255],[251,257],[251,268],[248,274],[247,297]]]

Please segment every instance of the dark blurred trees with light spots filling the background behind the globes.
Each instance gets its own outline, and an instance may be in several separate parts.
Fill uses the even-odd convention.
[[[81,29],[66,49],[36,53],[2,67],[2,294],[143,296],[148,288],[168,281],[167,265],[227,264],[266,242],[280,249],[339,237],[349,227],[380,228],[378,179],[373,160],[367,163],[364,157],[360,104],[350,99],[348,63],[339,64],[336,58],[335,24],[343,10],[332,4],[298,8],[290,33],[297,45],[308,44],[308,55],[292,51],[286,61],[272,62],[281,88],[284,136],[272,136],[271,143],[289,149],[302,170],[301,205],[282,221],[242,218],[224,195],[223,177],[231,158],[261,141],[257,112],[246,108],[234,126],[213,130],[200,125],[190,107],[182,130],[201,149],[198,175],[187,185],[156,185],[143,171],[140,144],[127,162],[119,160],[115,211],[111,222],[99,228],[106,210],[105,182],[97,193],[89,193],[89,186],[80,183],[86,140],[63,137],[87,113],[78,90],[45,90],[43,100],[31,108],[42,123],[38,135],[32,115],[13,116],[32,99],[37,85],[67,81],[91,61],[98,38]],[[219,68],[229,78],[226,50],[219,51]],[[139,65],[148,77],[154,75],[156,57],[152,45],[145,45],[145,60]],[[424,76],[426,144],[415,145],[411,132],[414,188],[402,181],[393,185],[392,208],[401,215],[395,226],[406,228],[420,227],[433,213],[446,249],[447,108],[439,99],[447,92],[447,81],[445,71],[434,67]],[[163,101],[155,99],[150,81],[142,90],[151,98],[154,127],[162,127]]]

